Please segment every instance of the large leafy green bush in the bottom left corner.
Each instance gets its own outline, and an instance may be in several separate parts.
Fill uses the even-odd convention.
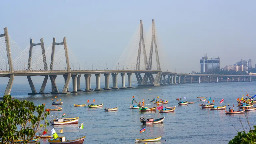
[[[49,126],[46,119],[49,112],[44,111],[44,105],[35,106],[33,102],[11,100],[11,96],[4,96],[0,102],[0,138],[1,143],[13,143],[24,140],[27,143],[33,139],[39,127]],[[44,123],[41,124],[41,121]],[[43,129],[43,128],[41,128]]]

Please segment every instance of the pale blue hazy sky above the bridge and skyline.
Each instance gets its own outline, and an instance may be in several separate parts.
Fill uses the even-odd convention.
[[[167,55],[165,69],[199,72],[199,59],[206,53],[219,56],[221,67],[249,58],[254,67],[255,5],[253,0],[2,1],[0,28],[8,26],[22,49],[30,38],[37,43],[43,37],[48,47],[52,37],[58,42],[66,36],[82,63],[112,63],[120,58],[140,19],[145,31],[155,19],[159,45]]]

